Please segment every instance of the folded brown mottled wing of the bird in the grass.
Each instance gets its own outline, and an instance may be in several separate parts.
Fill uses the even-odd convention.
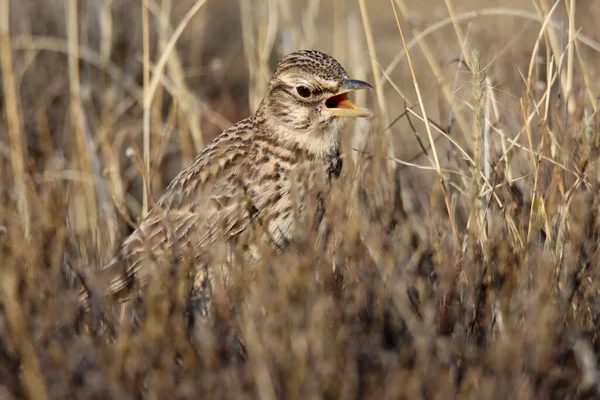
[[[108,280],[105,294],[123,299],[148,281],[152,265],[198,257],[208,244],[246,229],[253,209],[243,183],[248,176],[244,151],[209,147],[181,171],[101,271],[101,280]]]

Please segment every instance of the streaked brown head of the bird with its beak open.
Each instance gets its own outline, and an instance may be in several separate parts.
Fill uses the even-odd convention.
[[[326,157],[338,148],[343,120],[372,116],[348,99],[348,93],[361,89],[372,87],[350,79],[333,57],[316,50],[291,53],[269,81],[261,104],[264,123],[283,145]]]

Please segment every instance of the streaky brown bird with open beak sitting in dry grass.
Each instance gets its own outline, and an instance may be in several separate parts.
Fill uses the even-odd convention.
[[[256,112],[215,137],[175,176],[100,269],[100,294],[126,301],[151,278],[151,260],[175,249],[191,249],[200,259],[217,242],[257,240],[258,230],[275,248],[285,247],[297,217],[294,196],[314,185],[325,192],[340,174],[344,121],[374,116],[349,100],[350,92],[364,89],[373,88],[349,78],[324,52],[283,57]],[[82,301],[87,295],[83,290]]]

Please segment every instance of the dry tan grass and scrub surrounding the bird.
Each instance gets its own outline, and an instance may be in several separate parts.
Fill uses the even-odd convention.
[[[600,397],[598,4],[300,3],[0,0],[0,398]],[[344,137],[330,231],[233,266],[214,321],[186,265],[133,324],[79,312],[66,266],[93,285],[310,47],[382,117]]]

